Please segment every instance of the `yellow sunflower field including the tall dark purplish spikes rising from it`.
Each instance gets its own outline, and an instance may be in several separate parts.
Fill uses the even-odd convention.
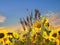
[[[23,31],[0,30],[0,45],[60,45],[60,30],[49,24],[47,16],[41,17],[38,10],[31,15],[20,19]]]

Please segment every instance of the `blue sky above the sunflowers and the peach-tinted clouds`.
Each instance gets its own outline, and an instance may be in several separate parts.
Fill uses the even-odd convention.
[[[41,14],[48,11],[60,12],[60,0],[0,0],[0,14],[6,17],[6,21],[0,23],[0,26],[18,24],[19,18],[26,17],[35,8]]]

